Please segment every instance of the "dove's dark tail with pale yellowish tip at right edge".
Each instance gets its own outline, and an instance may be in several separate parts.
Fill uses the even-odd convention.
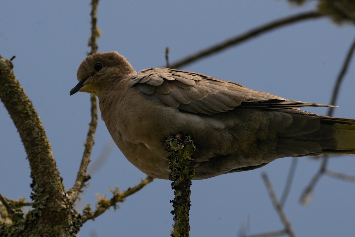
[[[355,154],[355,119],[292,111],[276,130],[280,157]]]

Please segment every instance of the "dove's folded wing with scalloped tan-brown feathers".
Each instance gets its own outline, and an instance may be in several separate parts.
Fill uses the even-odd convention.
[[[292,101],[255,91],[230,81],[194,72],[168,68],[150,68],[132,77],[151,99],[181,111],[215,114],[233,109],[283,109],[324,104]]]

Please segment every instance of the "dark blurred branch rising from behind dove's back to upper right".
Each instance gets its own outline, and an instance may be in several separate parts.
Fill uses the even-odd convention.
[[[323,15],[317,11],[309,11],[309,12],[304,12],[301,14],[296,14],[293,16],[288,16],[288,17],[285,17],[285,18],[282,18],[279,20],[269,22],[265,25],[256,27],[250,31],[243,33],[243,34],[237,35],[237,36],[227,39],[223,42],[212,45],[211,47],[208,47],[206,49],[202,49],[201,51],[193,53],[183,59],[180,59],[180,60],[172,63],[170,65],[170,68],[181,68],[182,66],[185,66],[186,64],[192,63],[193,61],[197,61],[197,60],[202,59],[202,58],[209,56],[211,54],[218,53],[224,49],[227,49],[228,47],[242,43],[252,37],[256,37],[256,36],[260,35],[261,33],[269,32],[272,29],[277,29],[278,27],[287,26],[291,23],[296,23],[296,22],[300,22],[303,20],[307,20],[307,19],[314,19],[314,18],[318,18],[318,17],[322,17],[322,16]]]

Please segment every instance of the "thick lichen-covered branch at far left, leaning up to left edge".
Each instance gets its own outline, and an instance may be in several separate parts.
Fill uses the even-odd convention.
[[[12,68],[12,62],[0,56],[0,98],[20,134],[27,153],[31,167],[32,198],[40,197],[44,204],[27,214],[29,216],[38,212],[38,219],[34,223],[27,223],[22,235],[36,233],[39,225],[42,228],[56,225],[66,228],[70,208],[66,208],[64,187],[51,145],[32,102],[13,74]]]

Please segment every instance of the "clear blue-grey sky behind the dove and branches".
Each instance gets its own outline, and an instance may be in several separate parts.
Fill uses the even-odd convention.
[[[280,17],[314,9],[286,1],[100,1],[99,52],[118,51],[136,71],[162,66],[164,49],[170,62]],[[88,1],[3,1],[0,5],[0,54],[11,58],[14,72],[32,100],[52,144],[67,189],[75,181],[89,123],[89,95],[69,97],[76,70],[89,51]],[[330,101],[335,78],[354,39],[353,26],[336,26],[327,18],[309,20],[263,34],[182,69],[237,82],[288,99]],[[341,87],[334,115],[355,118],[354,61]],[[326,108],[306,108],[325,114]],[[0,107],[0,192],[27,197],[29,165],[6,109]],[[111,138],[100,120],[92,160]],[[191,236],[237,236],[279,230],[282,224],[261,179],[267,172],[280,197],[291,158],[254,171],[225,174],[192,182]],[[353,236],[355,184],[322,177],[308,206],[299,197],[320,162],[301,157],[285,205],[297,236]],[[354,156],[331,158],[329,168],[354,174]],[[94,206],[96,193],[125,190],[146,177],[114,147],[92,175],[82,208]],[[88,221],[79,236],[169,236],[173,216],[170,181],[155,179],[140,192]],[[81,208],[81,209],[82,209]],[[249,224],[246,224],[249,222]]]

